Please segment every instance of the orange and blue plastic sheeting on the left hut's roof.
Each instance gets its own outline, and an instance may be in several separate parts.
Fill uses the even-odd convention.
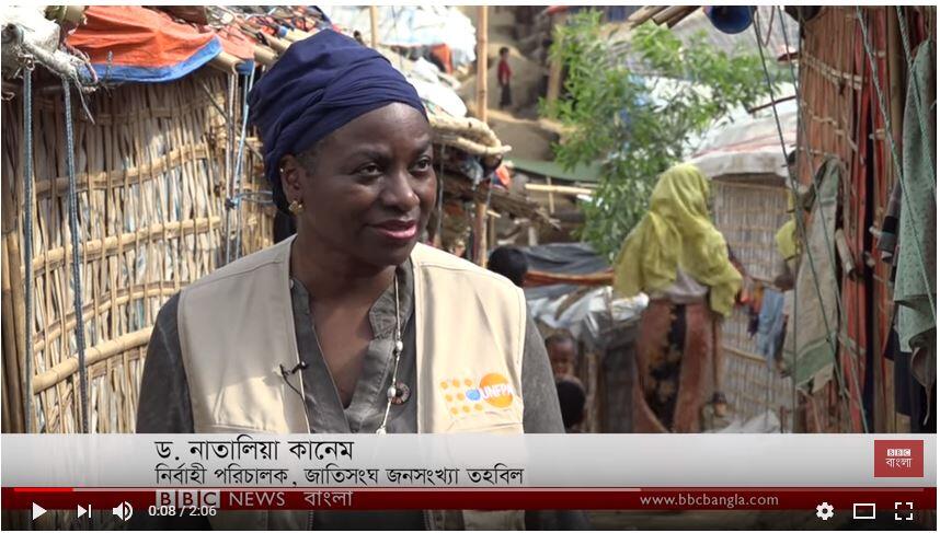
[[[199,32],[150,9],[91,5],[85,18],[67,42],[88,54],[105,82],[176,80],[222,51],[210,30]]]

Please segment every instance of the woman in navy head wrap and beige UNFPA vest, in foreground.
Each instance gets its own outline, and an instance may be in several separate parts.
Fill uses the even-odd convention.
[[[250,105],[297,234],[163,306],[138,432],[563,432],[521,290],[417,243],[437,182],[431,126],[404,77],[323,31],[290,46]],[[268,528],[523,525],[517,512],[275,514]],[[564,528],[566,515],[527,521]]]

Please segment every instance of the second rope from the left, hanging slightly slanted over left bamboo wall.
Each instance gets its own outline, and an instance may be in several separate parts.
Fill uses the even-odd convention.
[[[79,257],[78,193],[76,190],[74,131],[72,130],[72,99],[69,80],[62,78],[62,92],[66,97],[66,164],[69,177],[69,231],[72,243],[72,283],[76,308],[76,344],[79,362],[79,387],[81,407],[81,432],[89,432],[88,413],[88,368],[84,358],[84,317],[82,316],[81,268]]]

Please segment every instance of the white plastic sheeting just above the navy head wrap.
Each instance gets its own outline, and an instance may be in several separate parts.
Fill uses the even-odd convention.
[[[371,39],[369,8],[331,5],[323,8],[341,27],[358,30],[366,43]],[[434,46],[447,44],[455,68],[477,59],[477,28],[455,7],[382,5],[378,9],[379,43],[386,46]]]

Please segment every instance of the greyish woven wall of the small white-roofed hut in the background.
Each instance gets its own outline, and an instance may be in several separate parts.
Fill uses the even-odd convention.
[[[787,189],[772,181],[712,182],[715,228],[724,235],[747,274],[770,283],[779,260],[775,235],[787,221]],[[793,385],[771,370],[747,333],[748,315],[735,308],[722,325],[724,393],[734,413],[748,419],[780,408],[792,410]]]

